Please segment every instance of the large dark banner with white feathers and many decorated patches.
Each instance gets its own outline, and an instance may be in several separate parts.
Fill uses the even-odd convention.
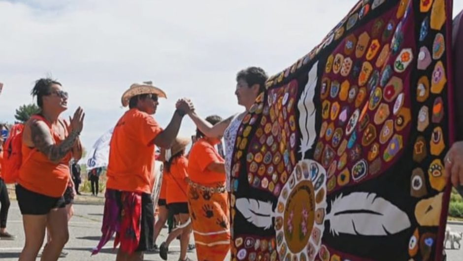
[[[232,261],[441,259],[451,5],[361,0],[270,77],[233,152]]]

